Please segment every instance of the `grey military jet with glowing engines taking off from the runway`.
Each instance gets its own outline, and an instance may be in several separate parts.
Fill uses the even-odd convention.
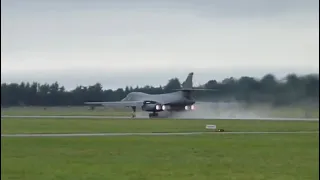
[[[147,94],[142,92],[131,92],[121,101],[114,102],[85,102],[87,105],[102,105],[112,107],[131,107],[132,117],[136,115],[136,108],[141,107],[143,111],[150,112],[149,118],[158,117],[158,113],[162,111],[181,112],[195,110],[195,100],[191,93],[196,90],[193,88],[193,72],[188,74],[187,79],[182,83],[181,89],[176,92],[165,94]]]

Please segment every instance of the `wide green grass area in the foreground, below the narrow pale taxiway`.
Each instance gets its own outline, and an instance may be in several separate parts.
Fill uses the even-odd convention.
[[[1,138],[1,179],[317,180],[318,143],[318,134]]]

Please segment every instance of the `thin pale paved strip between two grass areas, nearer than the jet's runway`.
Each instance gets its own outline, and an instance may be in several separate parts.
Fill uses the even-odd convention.
[[[93,137],[93,136],[177,136],[201,134],[314,134],[319,131],[296,132],[184,132],[184,133],[75,133],[75,134],[1,134],[1,137]]]

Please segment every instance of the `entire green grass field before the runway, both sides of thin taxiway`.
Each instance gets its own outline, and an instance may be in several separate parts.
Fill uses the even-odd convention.
[[[319,122],[2,119],[1,133],[318,131]],[[319,134],[1,138],[4,180],[316,180]]]

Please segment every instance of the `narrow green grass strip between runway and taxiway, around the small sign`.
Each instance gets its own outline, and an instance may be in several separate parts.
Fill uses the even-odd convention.
[[[319,121],[2,118],[1,133],[191,132],[207,124],[225,131],[319,130]]]

